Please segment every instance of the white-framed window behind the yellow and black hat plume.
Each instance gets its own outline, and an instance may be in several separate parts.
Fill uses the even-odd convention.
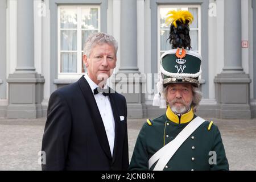
[[[170,25],[165,24],[167,13],[170,10],[188,10],[194,17],[193,23],[189,26],[191,47],[194,51],[201,53],[201,11],[200,5],[159,5],[158,6],[158,65],[161,55],[171,49],[168,35]],[[158,69],[159,70],[159,69]]]

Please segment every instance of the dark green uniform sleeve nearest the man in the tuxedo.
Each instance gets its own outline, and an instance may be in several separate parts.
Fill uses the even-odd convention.
[[[146,123],[143,125],[141,131],[139,132],[133,156],[131,158],[131,163],[129,170],[131,171],[147,171],[148,170],[148,152],[146,146]]]

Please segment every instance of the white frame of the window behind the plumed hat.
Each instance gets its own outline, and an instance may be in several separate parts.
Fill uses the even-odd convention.
[[[191,4],[181,4],[181,5],[175,5],[175,4],[161,4],[161,5],[158,5],[157,7],[157,26],[158,26],[158,30],[157,30],[157,34],[158,34],[158,37],[157,37],[157,49],[158,49],[158,72],[160,70],[160,55],[161,55],[161,51],[160,51],[160,8],[184,8],[184,7],[187,7],[187,8],[197,8],[197,12],[198,12],[198,19],[197,19],[197,22],[198,22],[198,27],[197,28],[190,28],[190,30],[198,30],[198,52],[200,55],[201,55],[201,5],[200,4],[196,4],[196,5],[191,5]],[[169,30],[169,29],[168,29]]]

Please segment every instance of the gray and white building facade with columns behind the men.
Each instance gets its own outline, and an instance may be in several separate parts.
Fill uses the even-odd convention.
[[[118,41],[109,85],[125,95],[129,118],[163,114],[152,98],[160,56],[171,48],[171,9],[194,16],[191,46],[203,57],[197,113],[255,118],[254,0],[1,0],[0,117],[46,117],[51,93],[86,72],[83,45],[99,31]]]

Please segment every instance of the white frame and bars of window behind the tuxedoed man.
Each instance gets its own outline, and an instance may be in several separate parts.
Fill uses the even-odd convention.
[[[77,30],[77,50],[76,51],[60,51],[61,46],[61,30],[65,30],[65,28],[60,28],[60,9],[61,8],[72,8],[77,9],[77,28],[73,30]],[[85,28],[81,27],[81,10],[83,8],[96,8],[98,9],[98,28],[95,30],[98,30],[98,32],[101,31],[101,6],[100,5],[58,5],[57,6],[57,78],[58,79],[78,79],[82,75],[84,75],[85,72],[82,72],[82,54],[83,54],[83,47],[82,47],[82,30],[86,30]],[[72,29],[67,29],[72,30]],[[88,29],[89,30],[89,29]],[[90,29],[91,30],[91,29]],[[80,51],[81,50],[81,51]],[[77,72],[76,73],[68,73],[60,72],[60,55],[61,52],[76,52],[77,53]]]

